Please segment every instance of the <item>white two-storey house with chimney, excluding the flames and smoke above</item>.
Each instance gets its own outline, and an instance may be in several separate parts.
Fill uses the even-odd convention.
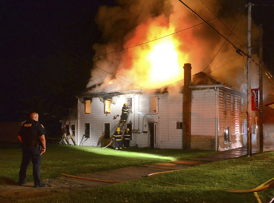
[[[246,145],[246,95],[203,72],[186,85],[191,65],[184,69],[181,86],[78,95],[78,118],[70,120],[76,144],[106,146],[127,103],[131,113],[122,130],[132,132],[130,146],[224,151]]]

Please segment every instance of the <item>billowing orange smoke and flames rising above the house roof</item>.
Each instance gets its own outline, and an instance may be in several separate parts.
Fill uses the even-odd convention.
[[[237,36],[231,33],[228,39],[247,53],[247,8],[243,13],[244,8],[225,11],[224,4],[220,4],[223,1],[203,0],[224,26],[199,1],[184,2],[203,19],[210,20],[208,23],[225,37],[230,34],[226,26],[233,29],[238,21],[233,29]],[[104,43],[93,46],[95,56],[101,56],[94,57],[94,64],[99,68],[92,70],[87,88],[96,85],[93,92],[160,88],[183,79],[183,66],[190,63],[192,74],[204,71],[233,88],[246,91],[246,57],[240,57],[226,42],[211,62],[225,39],[180,1],[118,0],[117,3],[119,6],[102,6],[98,10],[96,23],[103,33]],[[258,36],[259,29],[253,24],[254,57]],[[136,46],[139,44],[142,45]],[[115,52],[121,49],[125,50]],[[114,53],[104,55],[109,52]],[[258,67],[253,64],[252,69],[253,76],[257,77]],[[258,86],[256,79],[253,85]]]

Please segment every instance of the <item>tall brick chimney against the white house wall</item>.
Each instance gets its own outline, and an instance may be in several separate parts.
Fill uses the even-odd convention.
[[[182,148],[189,150],[191,143],[191,64],[184,64],[183,88],[183,143]]]

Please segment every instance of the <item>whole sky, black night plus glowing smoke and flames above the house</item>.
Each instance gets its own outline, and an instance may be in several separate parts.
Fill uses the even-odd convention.
[[[183,2],[225,37],[230,34],[226,26],[232,29],[237,24],[233,28],[237,36],[231,33],[228,39],[246,52],[244,6],[249,1]],[[252,57],[258,61],[262,23],[264,62],[274,70],[273,7],[258,6],[274,5],[274,1],[252,3]],[[225,39],[178,0],[3,0],[0,9],[2,122],[22,121],[18,112],[36,109],[33,106],[41,113],[56,112],[56,106],[70,112],[75,95],[96,84],[102,84],[96,91],[158,88],[183,79],[184,63],[192,65],[192,74],[204,71],[246,90],[246,57],[240,57],[229,42],[222,47]],[[120,49],[125,50],[115,52]],[[106,55],[109,52],[114,53]],[[255,87],[257,73],[253,64]],[[45,110],[45,105],[50,108]]]

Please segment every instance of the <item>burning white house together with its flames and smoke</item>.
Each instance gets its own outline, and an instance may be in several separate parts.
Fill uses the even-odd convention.
[[[246,145],[244,57],[179,1],[119,2],[98,10],[103,40],[92,47],[91,77],[77,96],[77,119],[70,120],[76,144],[106,146],[127,103],[131,113],[122,131],[132,132],[130,146],[223,151]],[[246,52],[242,12],[220,17],[236,36],[202,4],[188,4]],[[218,1],[207,4],[222,13]],[[258,36],[252,26],[252,38]]]

